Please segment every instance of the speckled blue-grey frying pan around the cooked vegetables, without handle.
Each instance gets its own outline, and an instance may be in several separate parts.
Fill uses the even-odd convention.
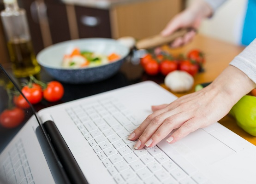
[[[80,69],[66,69],[61,66],[64,55],[74,47],[81,51],[91,51],[109,55],[116,53],[121,58],[113,63]],[[107,38],[87,38],[69,40],[54,44],[38,53],[36,59],[38,63],[48,72],[49,75],[58,81],[66,83],[90,83],[107,79],[114,75],[121,67],[129,49],[116,40]]]

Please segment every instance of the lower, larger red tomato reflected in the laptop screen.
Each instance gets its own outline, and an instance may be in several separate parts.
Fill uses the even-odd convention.
[[[24,111],[18,107],[6,109],[0,115],[0,124],[6,128],[18,127],[25,118]]]

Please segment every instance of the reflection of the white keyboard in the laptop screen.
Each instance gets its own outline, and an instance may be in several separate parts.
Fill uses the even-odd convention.
[[[6,184],[35,184],[21,139],[9,150],[0,172]]]

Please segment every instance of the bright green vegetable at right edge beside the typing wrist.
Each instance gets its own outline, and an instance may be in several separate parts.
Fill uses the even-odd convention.
[[[230,110],[239,127],[256,136],[256,97],[245,95]]]

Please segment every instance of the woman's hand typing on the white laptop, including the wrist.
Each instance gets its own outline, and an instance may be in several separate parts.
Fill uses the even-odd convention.
[[[154,112],[131,133],[129,139],[138,139],[135,149],[145,145],[153,147],[177,129],[167,138],[168,143],[174,143],[198,128],[219,121],[255,86],[247,75],[230,65],[202,90],[180,97],[171,104],[153,106]]]

